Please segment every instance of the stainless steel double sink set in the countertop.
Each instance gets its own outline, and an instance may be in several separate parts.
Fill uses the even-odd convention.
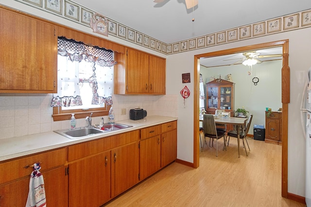
[[[89,136],[96,135],[96,134],[116,131],[116,130],[129,128],[129,127],[133,127],[133,126],[114,123],[114,124],[104,124],[102,129],[98,129],[95,127],[81,127],[81,128],[75,128],[75,129],[60,129],[54,132],[60,135],[63,135],[69,139],[80,139],[80,138],[85,138],[85,137],[89,137]]]

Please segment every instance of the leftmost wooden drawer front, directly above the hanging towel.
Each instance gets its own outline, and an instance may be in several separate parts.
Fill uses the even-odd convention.
[[[40,172],[44,172],[56,166],[64,165],[66,162],[66,148],[1,163],[0,184],[21,178],[23,176],[29,176],[33,172],[33,168],[24,167],[37,162],[42,162]]]

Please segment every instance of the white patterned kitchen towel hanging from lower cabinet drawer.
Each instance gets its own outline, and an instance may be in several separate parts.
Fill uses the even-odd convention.
[[[29,192],[26,207],[46,207],[44,180],[40,173],[40,163],[35,163],[30,175]]]

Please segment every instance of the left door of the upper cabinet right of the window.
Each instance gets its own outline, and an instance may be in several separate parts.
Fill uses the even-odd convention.
[[[127,93],[149,93],[149,55],[127,50]]]

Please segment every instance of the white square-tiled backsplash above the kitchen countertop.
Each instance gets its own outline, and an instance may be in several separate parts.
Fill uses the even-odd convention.
[[[0,139],[69,128],[69,120],[54,122],[52,94],[0,94]],[[116,121],[129,119],[129,110],[142,108],[148,115],[177,117],[177,95],[113,96]],[[121,115],[121,109],[126,115]],[[104,116],[107,122],[107,116]],[[93,118],[99,124],[100,117]],[[77,119],[77,127],[84,127],[85,119]]]

